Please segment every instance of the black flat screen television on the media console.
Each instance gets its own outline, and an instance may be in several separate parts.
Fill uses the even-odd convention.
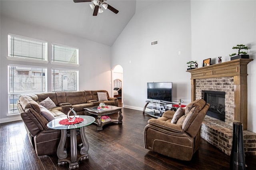
[[[172,82],[147,83],[147,98],[172,102]]]

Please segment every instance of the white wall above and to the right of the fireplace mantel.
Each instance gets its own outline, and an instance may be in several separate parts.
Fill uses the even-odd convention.
[[[256,1],[191,1],[192,60],[230,61],[237,44],[250,47],[248,64],[248,130],[256,132]],[[254,122],[254,123],[253,123]]]

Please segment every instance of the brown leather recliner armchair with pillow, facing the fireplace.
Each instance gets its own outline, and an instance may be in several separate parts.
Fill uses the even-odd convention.
[[[198,99],[184,109],[166,111],[162,117],[148,120],[144,147],[171,158],[191,160],[199,148],[201,125],[209,106]]]

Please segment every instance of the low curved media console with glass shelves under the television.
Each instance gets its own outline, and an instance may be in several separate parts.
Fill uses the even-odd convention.
[[[148,104],[151,104],[151,105],[148,106]],[[172,107],[170,107],[170,105],[175,105],[175,103],[169,103],[169,102],[166,103],[166,102],[162,102],[162,101],[146,100],[146,105],[144,106],[144,109],[143,109],[143,115],[145,115],[145,113],[146,113],[147,115],[150,115],[152,117],[156,117],[156,118],[162,117],[162,114],[165,111],[172,109]],[[145,112],[146,108],[152,109],[152,111]],[[168,108],[170,108],[170,109],[168,109]]]

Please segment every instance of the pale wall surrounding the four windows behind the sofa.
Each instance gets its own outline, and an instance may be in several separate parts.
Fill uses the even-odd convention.
[[[66,65],[53,65],[51,63],[28,63],[23,61],[12,61],[8,55],[7,35],[16,34],[48,42],[48,61],[51,58],[51,43],[58,43],[79,48],[79,67],[68,67]],[[16,119],[7,117],[8,114],[8,64],[43,66],[48,68],[48,92],[51,91],[51,68],[67,68],[79,70],[79,90],[108,90],[111,93],[111,48],[107,45],[92,42],[76,36],[67,35],[47,28],[32,26],[29,24],[14,21],[1,16],[1,56],[0,56],[0,122]]]

